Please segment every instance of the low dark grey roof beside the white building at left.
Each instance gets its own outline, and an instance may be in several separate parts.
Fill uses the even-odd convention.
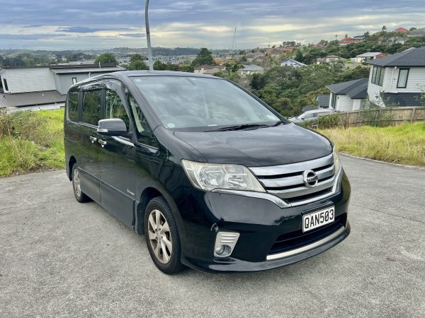
[[[64,102],[67,95],[61,95],[57,90],[40,92],[0,94],[0,107],[19,107],[32,105],[54,104]]]

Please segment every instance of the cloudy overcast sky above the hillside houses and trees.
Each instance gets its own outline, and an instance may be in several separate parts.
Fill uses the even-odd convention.
[[[425,27],[424,0],[151,0],[154,47],[279,45]],[[0,48],[146,47],[145,1],[1,0]]]

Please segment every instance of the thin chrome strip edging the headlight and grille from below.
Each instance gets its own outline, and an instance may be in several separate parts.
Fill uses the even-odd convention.
[[[326,199],[328,196],[333,196],[339,191],[339,187],[341,185],[341,175],[342,175],[342,166],[339,168],[339,172],[336,174],[335,178],[337,181],[334,183],[334,187],[332,187],[331,192],[322,194],[321,196],[314,196],[314,198],[311,198],[311,199],[296,201],[291,204],[288,204],[288,202],[284,201],[283,199],[280,199],[278,196],[275,196],[273,194],[269,194],[266,192],[252,192],[252,191],[229,190],[229,189],[213,189],[212,192],[223,193],[223,194],[236,194],[239,196],[249,196],[251,198],[265,199],[265,200],[273,202],[273,204],[276,204],[276,206],[280,208],[290,208],[291,206],[301,206],[302,204],[309,204],[314,201]]]

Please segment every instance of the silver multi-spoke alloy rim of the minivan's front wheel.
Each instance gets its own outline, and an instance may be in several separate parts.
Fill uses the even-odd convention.
[[[149,213],[148,220],[147,232],[152,251],[158,261],[162,264],[167,264],[173,252],[169,223],[166,221],[164,214],[157,209]]]

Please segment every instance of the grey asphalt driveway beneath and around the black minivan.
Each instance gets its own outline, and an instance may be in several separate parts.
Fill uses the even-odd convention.
[[[0,179],[0,317],[424,317],[425,170],[343,158],[351,235],[260,273],[166,276],[64,171]]]

